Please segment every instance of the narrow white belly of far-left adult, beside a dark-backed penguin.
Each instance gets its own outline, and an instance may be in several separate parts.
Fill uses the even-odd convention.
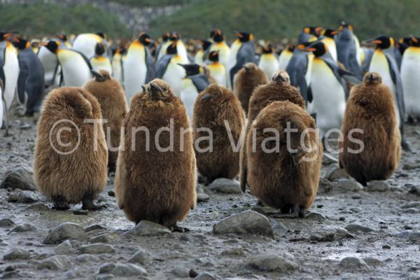
[[[15,96],[16,85],[18,85],[19,77],[19,60],[14,48],[6,48],[3,71],[5,79],[3,94],[7,109],[9,109],[13,102],[13,97]]]

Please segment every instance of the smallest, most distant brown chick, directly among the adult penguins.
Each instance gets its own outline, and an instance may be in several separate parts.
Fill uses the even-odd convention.
[[[252,62],[245,64],[235,75],[233,89],[246,114],[248,114],[249,99],[255,87],[265,85],[268,82],[269,80],[264,71]]]

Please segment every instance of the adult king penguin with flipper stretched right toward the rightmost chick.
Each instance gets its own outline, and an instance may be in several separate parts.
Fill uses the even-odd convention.
[[[346,80],[356,84],[360,80],[338,66],[322,41],[316,41],[306,51],[313,52],[315,56],[308,90],[308,111],[316,114],[316,125],[323,138],[328,130],[339,129],[342,125],[349,93]]]

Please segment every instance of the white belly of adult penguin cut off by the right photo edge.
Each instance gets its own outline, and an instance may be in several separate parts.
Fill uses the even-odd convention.
[[[407,48],[401,63],[402,90],[405,112],[420,118],[420,48]]]

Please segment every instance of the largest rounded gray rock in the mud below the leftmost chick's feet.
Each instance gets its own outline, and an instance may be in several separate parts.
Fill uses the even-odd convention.
[[[66,239],[84,240],[87,238],[85,229],[76,223],[62,223],[53,228],[47,237],[45,237],[44,244],[57,244]]]

